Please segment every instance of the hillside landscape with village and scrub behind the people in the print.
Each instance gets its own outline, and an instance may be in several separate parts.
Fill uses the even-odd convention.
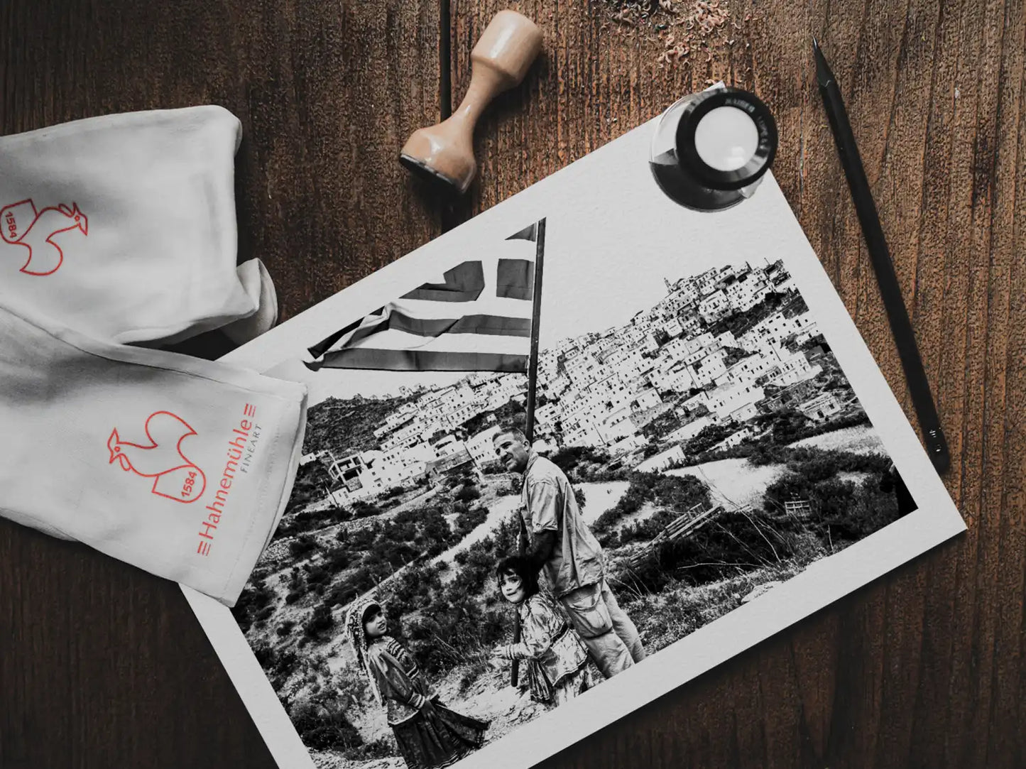
[[[781,263],[666,289],[544,350],[536,411],[536,447],[567,473],[649,652],[903,514]],[[523,418],[525,387],[478,373],[310,409],[288,508],[233,615],[322,769],[402,765],[342,629],[371,590],[442,701],[490,721],[488,741],[544,713],[487,663],[512,632],[492,570],[520,499],[491,437]]]

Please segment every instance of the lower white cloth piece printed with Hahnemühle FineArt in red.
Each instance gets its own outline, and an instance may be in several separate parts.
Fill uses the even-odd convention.
[[[0,299],[0,514],[232,606],[294,480],[306,387]]]

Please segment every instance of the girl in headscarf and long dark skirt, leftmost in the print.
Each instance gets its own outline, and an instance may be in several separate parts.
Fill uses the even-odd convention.
[[[346,632],[408,769],[448,766],[480,747],[488,722],[450,710],[432,697],[417,662],[387,631],[381,604],[363,599],[350,607]]]

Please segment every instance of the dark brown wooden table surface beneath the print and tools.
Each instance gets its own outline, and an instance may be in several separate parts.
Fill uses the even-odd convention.
[[[724,5],[737,27],[671,64],[657,61],[654,25],[679,15],[514,5],[543,30],[544,56],[482,118],[479,177],[456,202],[396,158],[459,103],[470,49],[503,7],[491,0],[6,0],[0,132],[227,107],[244,132],[240,259],[264,260],[287,318],[722,78],[775,111],[784,194],[913,419],[816,90],[815,34],[843,87],[969,533],[542,766],[1026,766],[1026,7]],[[0,767],[223,766],[274,762],[179,588],[0,521]]]

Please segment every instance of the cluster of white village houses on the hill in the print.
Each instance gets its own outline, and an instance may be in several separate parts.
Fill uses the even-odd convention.
[[[838,396],[812,384],[828,350],[813,343],[816,321],[782,262],[711,268],[666,287],[629,322],[540,353],[537,438],[614,458],[640,451],[637,469],[658,471],[681,461],[682,447],[707,428],[725,433],[710,449],[727,450],[753,436],[759,416],[791,408],[818,422],[854,401],[850,390]],[[403,388],[401,405],[373,429],[377,446],[340,455],[321,445],[302,464],[326,469],[322,504],[336,506],[486,467],[504,409],[522,403],[525,389],[524,375],[500,373]]]

